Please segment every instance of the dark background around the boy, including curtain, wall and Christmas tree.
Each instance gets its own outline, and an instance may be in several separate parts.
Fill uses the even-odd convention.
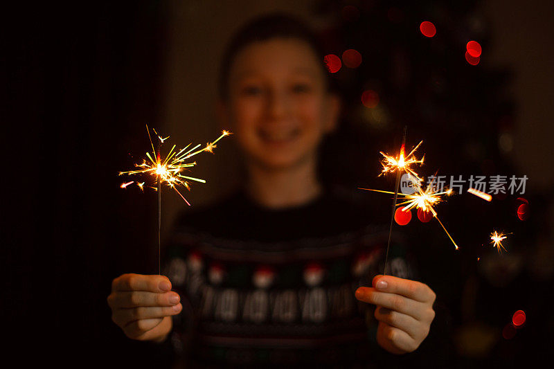
[[[425,138],[429,170],[530,178],[524,222],[510,196],[485,203],[463,195],[440,209],[458,253],[437,224],[415,219],[408,227],[422,280],[451,312],[462,368],[515,366],[547,352],[554,327],[546,305],[554,259],[551,2],[141,1],[3,12],[3,305],[20,360],[159,360],[111,323],[105,300],[121,273],[157,273],[155,195],[121,190],[117,174],[148,147],[145,124],[179,143],[217,136],[215,73],[224,45],[243,21],[271,10],[309,21],[329,53],[356,48],[364,57],[358,69],[334,75],[344,111],[323,147],[328,183],[388,186],[376,178],[377,153],[395,150],[404,124],[409,143]],[[423,20],[434,21],[436,37],[421,35]],[[469,39],[483,46],[477,66],[463,56]],[[381,110],[361,105],[366,89],[379,93]],[[195,174],[209,181],[193,186],[194,206],[240,182],[229,140],[199,158]],[[370,195],[361,201],[370,206]],[[167,237],[184,204],[168,194],[163,208]],[[483,251],[493,227],[514,233],[508,253]],[[503,328],[518,309],[526,325],[506,339]]]

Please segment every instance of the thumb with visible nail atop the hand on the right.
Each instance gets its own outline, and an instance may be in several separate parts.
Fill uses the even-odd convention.
[[[373,287],[379,291],[399,294],[422,303],[432,303],[436,297],[434,291],[422,282],[393,276],[375,276]]]

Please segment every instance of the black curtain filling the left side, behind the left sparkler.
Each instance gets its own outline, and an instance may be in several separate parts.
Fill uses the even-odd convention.
[[[122,190],[118,172],[163,124],[167,21],[163,1],[3,12],[2,305],[21,363],[152,358],[106,297],[120,273],[157,273],[155,196]]]

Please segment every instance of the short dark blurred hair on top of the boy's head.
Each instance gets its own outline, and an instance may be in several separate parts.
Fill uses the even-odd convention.
[[[299,19],[290,15],[275,13],[253,19],[242,26],[235,33],[231,42],[229,42],[229,46],[227,46],[223,54],[218,81],[219,95],[222,100],[226,100],[229,97],[229,73],[238,53],[255,42],[267,41],[274,38],[299,39],[308,44],[318,60],[321,61],[321,69],[325,76],[325,86],[328,91],[334,91],[334,80],[330,78],[330,73],[328,73],[327,66],[323,61],[325,53],[312,30]]]

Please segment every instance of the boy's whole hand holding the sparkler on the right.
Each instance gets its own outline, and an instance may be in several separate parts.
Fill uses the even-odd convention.
[[[393,276],[375,276],[373,287],[359,287],[356,298],[376,305],[377,343],[393,354],[419,347],[435,318],[436,295],[429,286]]]

